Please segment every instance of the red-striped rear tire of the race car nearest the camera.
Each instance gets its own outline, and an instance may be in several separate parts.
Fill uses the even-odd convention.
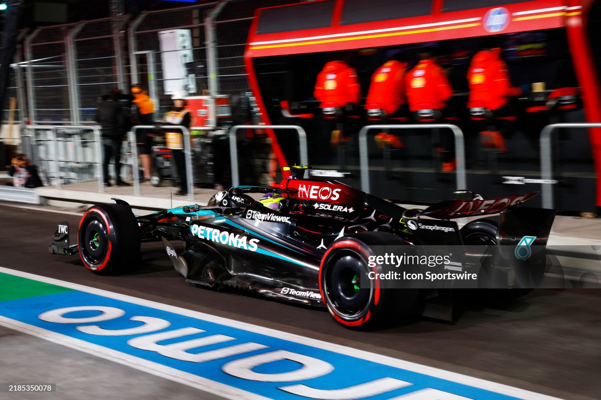
[[[365,232],[342,237],[323,255],[319,271],[322,299],[334,319],[349,329],[364,330],[394,324],[415,308],[419,290],[384,288],[369,279],[370,271],[385,273],[383,266],[369,267],[371,246],[404,245],[391,233]],[[368,279],[370,287],[359,281]]]

